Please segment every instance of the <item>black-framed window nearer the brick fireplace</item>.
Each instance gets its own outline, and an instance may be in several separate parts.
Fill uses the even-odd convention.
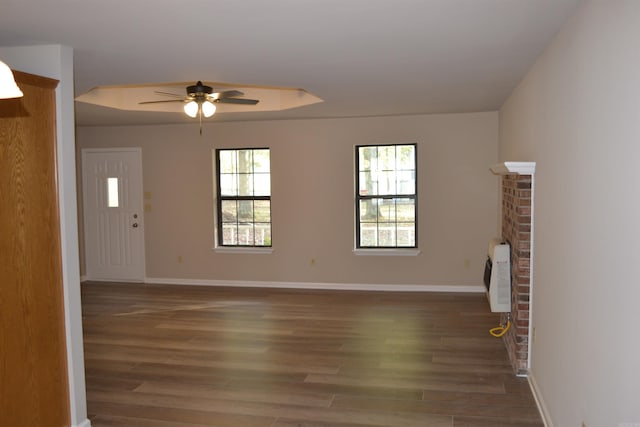
[[[356,248],[417,248],[416,148],[356,146]]]

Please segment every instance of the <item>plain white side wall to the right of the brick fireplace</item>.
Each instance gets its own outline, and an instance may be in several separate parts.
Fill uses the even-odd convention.
[[[537,162],[531,372],[549,424],[640,423],[639,1],[581,5],[502,107],[500,159]]]

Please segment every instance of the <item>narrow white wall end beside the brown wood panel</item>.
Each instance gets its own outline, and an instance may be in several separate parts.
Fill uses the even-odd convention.
[[[13,69],[60,82],[56,88],[56,128],[70,413],[73,426],[87,427],[76,208],[73,50],[60,45],[0,47],[0,59]]]

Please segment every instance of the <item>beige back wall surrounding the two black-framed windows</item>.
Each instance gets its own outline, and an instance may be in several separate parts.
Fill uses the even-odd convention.
[[[79,128],[140,146],[149,280],[481,286],[497,230],[498,114]],[[356,256],[354,145],[418,143],[418,256]],[[273,253],[215,253],[212,149],[270,147]],[[183,262],[178,262],[182,257]],[[311,259],[315,259],[312,265]]]

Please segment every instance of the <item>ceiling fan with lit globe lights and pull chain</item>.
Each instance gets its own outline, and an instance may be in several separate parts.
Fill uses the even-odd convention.
[[[187,86],[187,96],[178,95],[176,93],[160,92],[155,93],[165,96],[171,96],[174,99],[161,101],[143,101],[138,104],[158,104],[164,102],[182,102],[184,103],[184,112],[187,116],[200,119],[200,135],[202,135],[202,116],[211,117],[216,112],[217,103],[222,104],[242,104],[256,105],[257,99],[239,98],[244,95],[239,90],[225,90],[222,92],[213,92],[211,86],[203,84],[200,80],[195,85]]]

